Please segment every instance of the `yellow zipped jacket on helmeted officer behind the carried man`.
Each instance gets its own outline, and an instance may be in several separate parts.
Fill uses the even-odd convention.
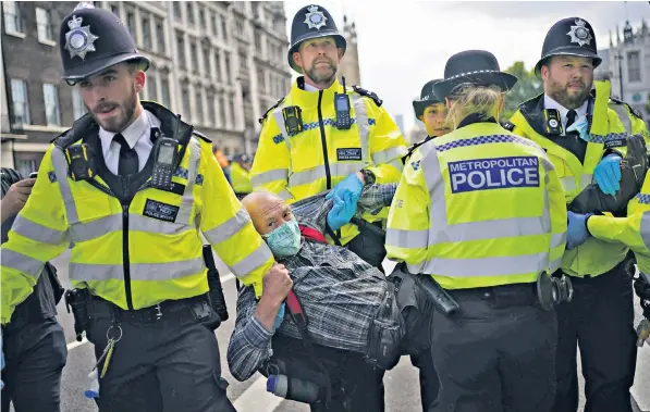
[[[348,88],[353,124],[348,129],[339,129],[334,125],[334,95],[343,92],[339,82],[319,91],[305,91],[299,84],[304,84],[303,77],[263,117],[250,170],[255,188],[262,187],[292,203],[331,189],[364,168],[375,174],[377,183],[400,180],[406,143],[397,125],[380,107],[381,100],[363,89]],[[303,127],[290,135],[283,109],[294,105],[301,110]],[[361,217],[376,222],[387,215],[384,210]],[[341,242],[345,245],[357,234],[356,226],[343,226]]]

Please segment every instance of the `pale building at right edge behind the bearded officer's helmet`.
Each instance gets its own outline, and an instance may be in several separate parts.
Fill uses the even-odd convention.
[[[612,96],[635,108],[650,125],[647,105],[650,100],[650,29],[646,21],[634,29],[629,22],[623,28],[623,38],[616,27],[615,42],[610,34],[610,48],[600,50],[603,59],[596,70],[597,78],[612,83]]]

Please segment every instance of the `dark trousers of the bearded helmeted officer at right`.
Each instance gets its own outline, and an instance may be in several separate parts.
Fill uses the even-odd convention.
[[[631,279],[620,263],[596,277],[573,277],[574,298],[557,307],[557,395],[553,412],[578,410],[580,348],[585,412],[630,412],[637,347]]]

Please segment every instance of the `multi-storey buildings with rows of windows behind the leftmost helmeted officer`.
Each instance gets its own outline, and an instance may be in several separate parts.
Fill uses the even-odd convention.
[[[151,61],[142,99],[180,113],[225,154],[255,151],[257,120],[291,78],[282,2],[94,4],[116,14]],[[48,142],[86,111],[61,80],[59,25],[74,5],[2,1],[3,166],[36,170]]]

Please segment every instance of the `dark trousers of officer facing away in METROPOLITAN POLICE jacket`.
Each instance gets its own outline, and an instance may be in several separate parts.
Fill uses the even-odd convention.
[[[432,319],[440,392],[432,412],[550,412],[555,395],[554,311],[534,284],[449,290],[461,310]]]

